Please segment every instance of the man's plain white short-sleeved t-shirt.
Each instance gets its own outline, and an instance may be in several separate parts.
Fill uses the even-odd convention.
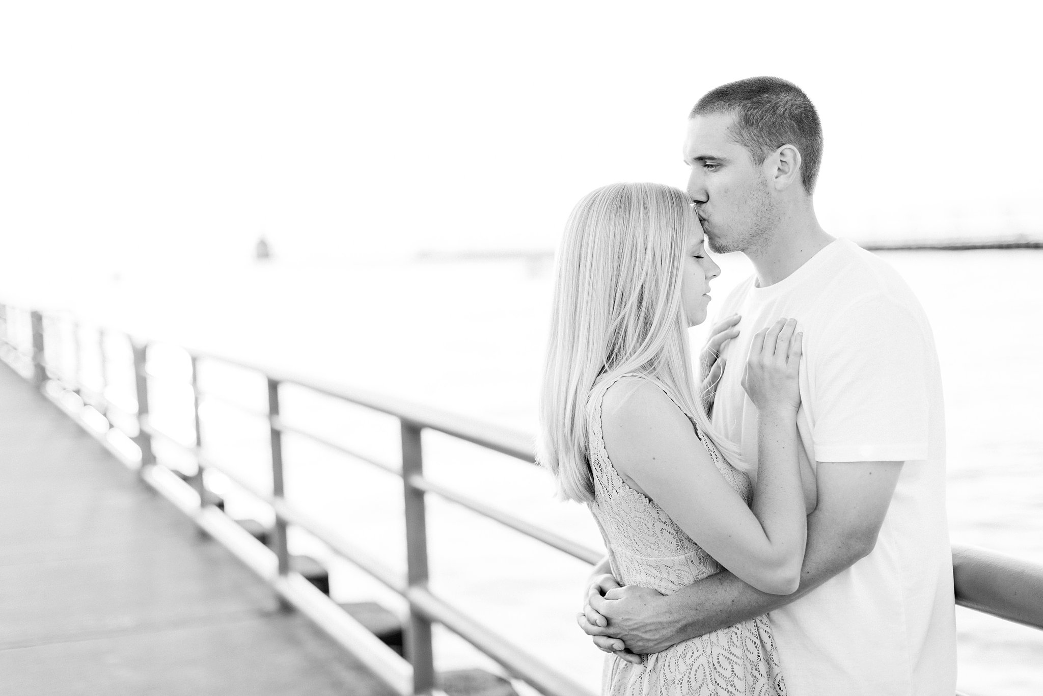
[[[713,424],[756,461],[756,407],[741,380],[750,341],[779,317],[804,332],[798,429],[817,461],[904,461],[873,551],[771,613],[792,696],[952,696],[952,559],[945,513],[945,414],[930,326],[905,282],[836,240],[789,278],[741,284],[719,317],[725,347]]]

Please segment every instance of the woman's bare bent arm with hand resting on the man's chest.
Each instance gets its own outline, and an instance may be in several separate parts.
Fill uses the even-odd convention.
[[[622,380],[605,397],[609,458],[636,490],[737,577],[785,595],[800,582],[806,519],[797,456],[796,322],[760,332],[744,388],[760,411],[760,466],[751,510],[718,471],[690,422],[656,385]]]

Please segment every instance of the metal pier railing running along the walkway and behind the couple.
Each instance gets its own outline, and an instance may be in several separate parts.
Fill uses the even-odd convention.
[[[21,312],[21,328],[29,337],[11,340],[8,328],[16,313]],[[62,319],[53,317],[52,321]],[[82,412],[70,407],[62,393],[75,394],[83,408],[91,408],[104,418],[102,428],[88,428],[99,435],[103,445],[128,464],[140,467],[142,478],[169,498],[189,514],[203,530],[224,544],[248,567],[267,580],[276,591],[281,602],[292,606],[311,618],[345,649],[353,652],[389,687],[404,696],[437,692],[434,656],[432,650],[432,624],[441,623],[465,639],[476,648],[493,658],[511,675],[526,681],[547,696],[590,696],[590,692],[566,675],[513,645],[505,638],[475,621],[464,613],[432,594],[428,589],[428,542],[426,496],[431,494],[460,505],[471,512],[493,520],[547,546],[562,551],[580,560],[597,563],[602,553],[564,536],[542,529],[495,507],[474,500],[435,483],[423,476],[423,449],[421,432],[438,431],[461,440],[472,442],[487,450],[510,455],[527,462],[534,462],[531,438],[525,433],[491,426],[470,418],[437,411],[408,402],[374,394],[349,387],[317,383],[287,371],[273,371],[240,360],[218,355],[188,352],[191,360],[189,385],[192,388],[194,442],[187,446],[170,434],[153,427],[149,421],[150,374],[146,369],[149,343],[136,341],[122,332],[132,351],[134,384],[137,408],[129,409],[106,398],[105,380],[111,365],[105,351],[105,330],[98,329],[98,360],[102,387],[89,388],[79,381],[82,366],[78,329],[74,329],[74,375],[65,374],[46,359],[44,341],[47,317],[37,311],[15,310],[0,305],[0,357],[6,360],[52,401],[74,416],[81,425]],[[76,325],[73,325],[74,327]],[[271,491],[264,490],[242,476],[211,458],[203,447],[199,417],[200,404],[205,399],[223,401],[243,409],[240,404],[220,395],[203,391],[199,384],[200,361],[218,361],[227,365],[256,371],[267,382],[267,409],[254,413],[268,422],[271,455]],[[402,466],[351,450],[339,442],[323,438],[283,421],[280,408],[282,385],[296,385],[325,397],[332,397],[398,419],[402,447]],[[246,410],[246,409],[243,409]],[[137,431],[125,433],[132,439],[140,454],[131,461],[125,450],[113,446],[105,437],[116,430],[112,416],[137,423]],[[120,431],[123,432],[123,431]],[[308,513],[290,505],[284,491],[283,435],[292,433],[319,442],[332,450],[374,465],[402,478],[405,497],[407,572],[403,578],[383,561],[372,557],[339,532],[314,520]],[[198,463],[195,474],[183,481],[173,471],[156,462],[152,452],[153,439],[164,440],[192,455]],[[271,549],[265,549],[248,532],[214,505],[214,496],[207,489],[202,472],[221,472],[247,494],[266,503],[274,515]],[[343,608],[314,587],[291,563],[287,541],[290,526],[306,530],[322,542],[337,555],[349,560],[387,587],[402,595],[408,602],[409,616],[405,626],[406,659],[384,645]],[[954,550],[956,568],[956,603],[968,608],[991,614],[1009,621],[1043,628],[1043,569],[1033,563],[1011,559],[974,549]],[[985,569],[985,570],[983,570]],[[991,575],[990,575],[991,574]],[[995,578],[1001,577],[996,582]],[[1027,599],[1026,597],[1027,593]],[[1011,598],[1015,599],[1012,600]]]

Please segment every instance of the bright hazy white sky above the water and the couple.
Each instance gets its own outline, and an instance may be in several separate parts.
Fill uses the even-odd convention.
[[[1040,237],[1032,5],[4,3],[0,270],[550,248],[756,74],[819,107],[830,231]]]

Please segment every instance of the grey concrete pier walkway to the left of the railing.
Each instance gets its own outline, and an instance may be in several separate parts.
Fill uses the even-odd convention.
[[[0,694],[390,692],[0,363]]]

